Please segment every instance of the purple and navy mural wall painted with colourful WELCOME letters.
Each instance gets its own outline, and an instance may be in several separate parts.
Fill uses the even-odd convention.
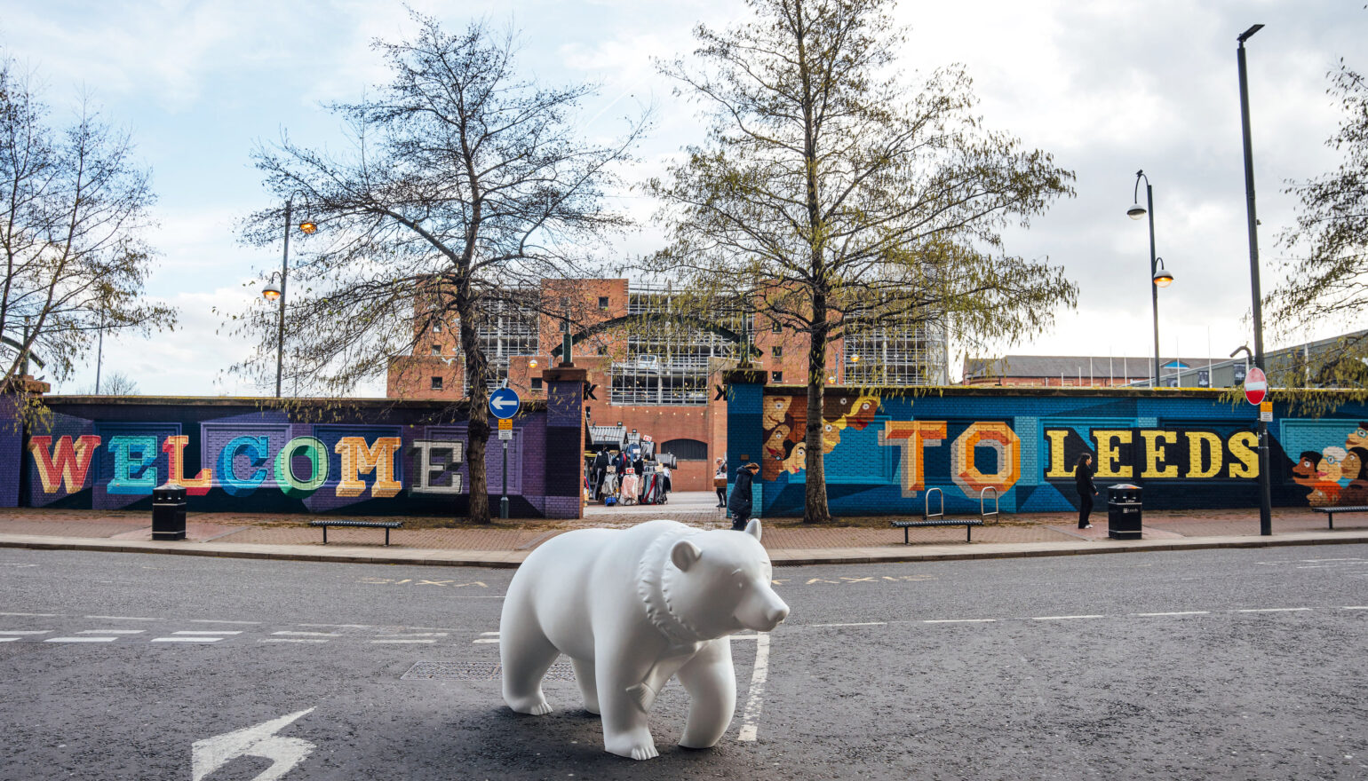
[[[170,481],[186,487],[192,512],[461,516],[469,509],[466,421],[446,403],[357,402],[297,413],[226,399],[53,397],[48,403],[51,419],[27,432],[23,447],[22,505],[144,510],[152,490]],[[579,428],[557,434],[573,438]],[[514,517],[579,514],[573,475],[546,486],[546,405],[514,420],[508,447]],[[573,472],[575,462],[558,471]],[[488,491],[498,497],[497,439],[487,464]]]

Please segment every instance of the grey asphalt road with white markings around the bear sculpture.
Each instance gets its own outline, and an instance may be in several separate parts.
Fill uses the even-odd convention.
[[[1368,778],[1368,546],[781,568],[647,763],[503,706],[510,576],[0,550],[0,778]]]

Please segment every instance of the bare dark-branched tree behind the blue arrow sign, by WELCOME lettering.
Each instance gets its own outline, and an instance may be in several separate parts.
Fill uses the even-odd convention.
[[[518,77],[512,34],[483,23],[450,34],[412,12],[412,40],[375,48],[393,78],[373,97],[331,107],[354,134],[347,156],[287,138],[256,152],[282,200],[319,226],[290,268],[291,371],[308,387],[346,393],[383,376],[439,327],[458,327],[469,386],[471,520],[488,522],[488,361],[482,317],[534,306],[542,279],[581,276],[605,234],[629,224],[603,205],[614,168],[642,129],[607,145],[583,141],[575,111],[592,90]],[[302,202],[302,207],[300,205]],[[248,241],[279,238],[280,208],[253,215]],[[274,310],[241,321],[264,349],[238,367],[275,371]]]

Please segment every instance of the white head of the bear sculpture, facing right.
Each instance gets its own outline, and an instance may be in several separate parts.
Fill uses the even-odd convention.
[[[788,617],[788,605],[770,585],[773,566],[761,546],[761,522],[744,533],[689,535],[670,548],[665,592],[673,613],[702,637],[741,629],[769,632]]]

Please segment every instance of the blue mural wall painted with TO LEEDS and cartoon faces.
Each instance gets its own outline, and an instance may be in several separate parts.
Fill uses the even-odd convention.
[[[802,514],[806,394],[736,379],[751,378],[728,386],[728,462],[762,465],[763,514]],[[1257,506],[1256,408],[1218,395],[832,388],[822,416],[828,498],[834,514],[921,514],[936,487],[948,513],[978,513],[984,490],[996,488],[1003,512],[1071,510],[1074,464],[1090,453],[1099,487],[1138,484],[1146,507]],[[1270,424],[1274,502],[1368,503],[1368,409],[1285,413],[1275,405]]]

